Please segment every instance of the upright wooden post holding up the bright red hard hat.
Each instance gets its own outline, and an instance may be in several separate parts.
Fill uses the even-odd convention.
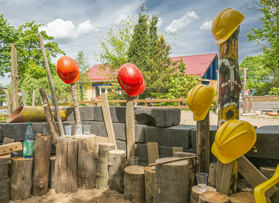
[[[127,132],[127,165],[130,166],[130,157],[135,156],[135,114],[133,97],[127,94],[126,105],[126,132]]]

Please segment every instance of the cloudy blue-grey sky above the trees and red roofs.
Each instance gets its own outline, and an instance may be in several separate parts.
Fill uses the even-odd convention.
[[[142,0],[0,0],[0,14],[15,28],[25,22],[43,23],[40,30],[55,38],[67,56],[75,58],[79,50],[88,54],[89,64],[97,64],[92,50],[96,51],[97,35],[118,27],[122,19],[138,18]],[[261,27],[253,13],[240,10],[243,0],[146,0],[146,14],[158,13],[160,30],[170,30],[179,41],[170,40],[171,57],[218,53],[211,31],[212,19],[226,8],[239,10],[246,15],[239,34],[239,63],[248,55],[261,53],[255,42],[247,42],[251,28]],[[98,53],[98,52],[97,52]],[[62,55],[52,58],[56,64]],[[0,77],[6,86],[11,79]]]

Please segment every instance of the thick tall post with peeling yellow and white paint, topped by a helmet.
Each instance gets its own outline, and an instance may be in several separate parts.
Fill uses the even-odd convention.
[[[219,45],[218,128],[226,121],[239,119],[239,92],[242,88],[238,65],[240,26]],[[216,191],[226,195],[237,191],[237,160],[223,164],[217,160]]]

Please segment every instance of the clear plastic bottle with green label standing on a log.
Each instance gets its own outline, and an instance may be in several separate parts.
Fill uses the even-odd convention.
[[[24,141],[23,141],[23,158],[30,159],[33,157],[33,130],[31,126],[31,122],[28,122],[27,129],[24,134]]]

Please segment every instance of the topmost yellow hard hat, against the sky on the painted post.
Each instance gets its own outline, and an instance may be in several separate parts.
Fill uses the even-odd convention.
[[[244,18],[245,15],[232,8],[225,9],[213,18],[211,31],[216,39],[215,46],[229,39]]]

